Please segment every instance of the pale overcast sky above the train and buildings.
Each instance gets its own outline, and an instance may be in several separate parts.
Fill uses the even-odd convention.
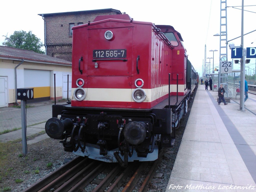
[[[152,22],[156,25],[171,25],[177,30],[184,40],[188,58],[192,65],[202,74],[202,65],[206,58],[213,57],[209,50],[219,50],[219,37],[213,36],[220,33],[220,1],[221,0],[162,0],[162,1],[2,1],[1,2],[1,30],[0,45],[4,41],[3,35],[8,37],[14,31],[32,31],[44,43],[44,20],[38,14],[73,12],[82,10],[113,8],[126,12],[134,20]],[[241,36],[241,6],[242,0],[227,0],[227,26],[228,40]],[[244,34],[256,29],[255,0],[244,0]],[[252,13],[254,12],[254,13]],[[254,42],[255,41],[255,42]],[[254,42],[253,44],[251,44]],[[241,38],[231,41],[235,46],[240,46]],[[244,48],[256,47],[256,31],[244,36]],[[231,50],[228,49],[228,60]],[[206,59],[212,62],[213,59]],[[214,52],[214,68],[219,66],[219,51]],[[234,69],[240,69],[235,64]],[[247,64],[255,68],[255,59]],[[253,71],[253,70],[252,70]],[[253,73],[253,72],[252,72]]]

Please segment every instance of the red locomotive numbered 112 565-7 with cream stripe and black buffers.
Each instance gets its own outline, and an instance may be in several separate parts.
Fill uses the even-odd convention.
[[[157,159],[198,84],[180,33],[126,14],[72,30],[72,100],[53,105],[46,133],[65,151],[124,167]]]

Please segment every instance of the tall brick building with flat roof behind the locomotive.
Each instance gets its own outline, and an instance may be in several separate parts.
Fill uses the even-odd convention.
[[[73,26],[92,22],[98,15],[121,14],[116,9],[97,9],[76,12],[38,14],[44,19],[46,55],[72,60],[72,30]]]

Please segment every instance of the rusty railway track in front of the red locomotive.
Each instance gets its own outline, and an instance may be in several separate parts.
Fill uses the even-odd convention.
[[[93,192],[132,191],[135,186],[139,192],[147,191],[163,153],[164,150],[161,150],[159,158],[154,162],[131,162],[125,169],[117,163],[105,163],[79,156],[38,180],[23,192],[85,191],[84,188],[90,183],[96,184]],[[103,179],[99,177],[101,173],[106,175]]]

